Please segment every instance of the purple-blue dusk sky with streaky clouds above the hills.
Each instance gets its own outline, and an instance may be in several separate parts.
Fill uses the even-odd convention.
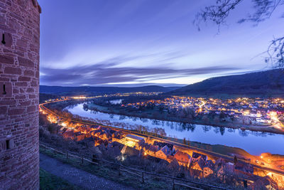
[[[258,26],[239,24],[252,5],[216,25],[192,24],[214,1],[39,0],[40,85],[188,85],[266,70],[263,53],[283,35],[283,11]]]

